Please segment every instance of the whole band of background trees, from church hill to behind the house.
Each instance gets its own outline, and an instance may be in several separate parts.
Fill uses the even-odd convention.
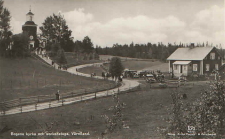
[[[24,57],[29,56],[32,49],[28,49],[29,36],[26,33],[13,35],[10,31],[10,12],[4,8],[3,1],[0,0],[0,54],[1,56],[9,57]],[[54,14],[46,17],[42,25],[40,38],[47,40],[45,49],[50,52],[53,58],[64,56],[64,52],[75,52],[77,55],[97,53],[99,55],[113,55],[141,59],[159,59],[166,60],[177,48],[189,47],[190,45],[179,44],[163,44],[159,42],[147,44],[114,44],[112,47],[102,48],[94,45],[91,39],[86,36],[83,40],[74,41],[71,36],[72,31],[69,29],[64,17],[59,14]],[[42,42],[37,42],[38,44]],[[212,44],[211,44],[212,45]],[[209,46],[208,42],[197,44],[197,46]],[[221,47],[221,46],[220,46]],[[34,48],[36,49],[36,48]],[[58,52],[59,51],[59,52]],[[220,49],[224,55],[224,50]],[[58,55],[60,54],[60,55]],[[96,56],[98,58],[98,56]],[[64,58],[60,58],[64,59]]]

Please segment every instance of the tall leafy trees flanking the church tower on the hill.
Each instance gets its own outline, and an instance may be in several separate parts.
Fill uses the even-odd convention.
[[[35,47],[29,48],[29,35],[26,32],[13,34],[10,28],[10,11],[4,7],[4,1],[0,0],[0,55],[4,57],[27,57],[32,51],[42,49],[43,38],[46,51],[56,62],[65,64],[64,52],[77,52],[81,54],[94,53],[94,47],[91,39],[86,36],[82,41],[73,41],[72,31],[69,29],[64,17],[59,14],[48,16],[42,25],[40,36],[35,40]],[[43,50],[43,49],[42,49]]]

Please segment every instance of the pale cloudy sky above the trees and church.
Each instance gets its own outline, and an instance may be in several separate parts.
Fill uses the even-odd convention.
[[[30,6],[40,27],[59,12],[75,40],[113,44],[205,43],[225,48],[224,0],[4,0],[13,33],[21,33]],[[38,30],[40,32],[40,30]]]

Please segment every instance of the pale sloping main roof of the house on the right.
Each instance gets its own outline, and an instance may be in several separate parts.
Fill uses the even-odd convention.
[[[167,60],[203,60],[214,47],[177,48]]]

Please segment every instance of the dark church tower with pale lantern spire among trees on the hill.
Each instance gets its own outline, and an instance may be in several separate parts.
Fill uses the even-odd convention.
[[[30,39],[29,48],[35,47],[35,41],[37,40],[37,25],[34,23],[34,14],[31,12],[31,9],[26,14],[27,21],[22,26],[23,33],[27,33]]]

